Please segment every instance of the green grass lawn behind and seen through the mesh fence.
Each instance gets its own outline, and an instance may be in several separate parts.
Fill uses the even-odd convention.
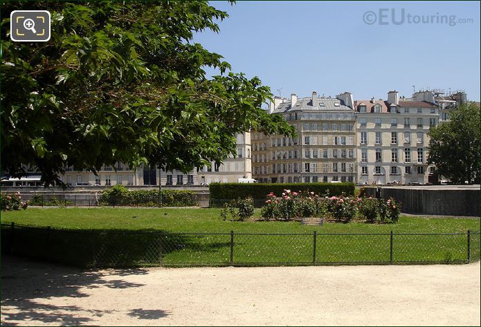
[[[235,232],[234,265],[312,264],[314,248],[316,263],[320,264],[389,263],[390,231],[394,233],[394,263],[465,262],[466,232],[480,230],[480,219],[475,218],[401,216],[396,224],[352,222],[312,226],[295,221],[222,221],[220,212],[221,209],[185,208],[28,208],[2,212],[1,222],[66,229],[64,232],[15,229],[13,247],[19,254],[86,266],[228,265],[230,230]],[[259,214],[256,210],[255,218],[260,218]],[[101,234],[96,230],[110,232]],[[314,231],[318,233],[315,247]],[[276,233],[291,235],[270,235]],[[402,235],[407,233],[448,235]],[[10,230],[3,228],[3,247],[8,247],[9,237]],[[473,233],[470,241],[471,258],[479,259],[480,234]]]

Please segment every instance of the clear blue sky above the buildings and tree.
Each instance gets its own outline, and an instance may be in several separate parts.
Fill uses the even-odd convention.
[[[219,23],[219,34],[201,32],[194,41],[223,55],[234,72],[257,75],[275,95],[282,88],[284,97],[316,90],[386,99],[392,89],[410,97],[415,85],[462,89],[480,101],[479,1],[210,3],[230,17]],[[393,24],[402,8],[403,24]],[[367,11],[374,24],[365,24],[364,18],[373,21]]]

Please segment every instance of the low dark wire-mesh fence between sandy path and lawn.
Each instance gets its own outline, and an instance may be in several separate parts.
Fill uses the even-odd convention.
[[[2,252],[82,267],[467,263],[480,232],[170,233],[1,225]]]

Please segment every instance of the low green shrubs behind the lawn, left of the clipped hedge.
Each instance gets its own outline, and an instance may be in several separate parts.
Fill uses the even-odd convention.
[[[192,207],[197,205],[192,191],[163,189],[140,189],[129,191],[124,185],[115,185],[100,196],[101,205],[140,205],[153,207]]]

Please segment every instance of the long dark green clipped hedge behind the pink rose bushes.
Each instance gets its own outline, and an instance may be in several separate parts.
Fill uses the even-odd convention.
[[[210,200],[235,198],[265,199],[269,192],[281,196],[284,189],[291,191],[314,191],[316,194],[354,196],[354,183],[212,183],[209,185]]]

